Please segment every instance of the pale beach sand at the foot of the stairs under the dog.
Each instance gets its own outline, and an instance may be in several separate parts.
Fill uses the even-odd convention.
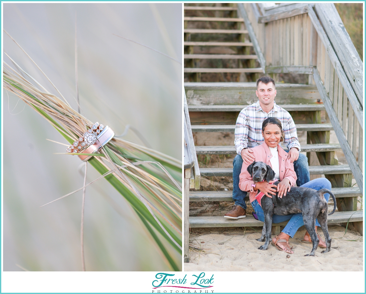
[[[302,228],[296,232],[294,238],[290,238],[290,246],[294,246],[293,254],[281,252],[271,244],[268,250],[259,250],[258,247],[264,242],[256,240],[261,235],[256,231],[191,232],[190,262],[184,264],[184,271],[363,270],[363,237],[358,232],[347,230],[344,234],[344,227],[331,225],[330,252],[321,253],[324,249],[318,248],[315,257],[305,257],[305,254],[310,253],[312,245],[301,242],[306,231]],[[318,232],[324,240],[321,229]]]

